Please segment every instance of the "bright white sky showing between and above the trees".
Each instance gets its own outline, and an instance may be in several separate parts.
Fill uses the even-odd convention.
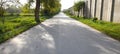
[[[62,5],[61,10],[68,9],[68,8],[72,7],[74,5],[75,1],[78,1],[78,0],[61,0],[61,2],[60,2]],[[20,2],[22,4],[25,4],[27,2],[27,0],[20,0]]]

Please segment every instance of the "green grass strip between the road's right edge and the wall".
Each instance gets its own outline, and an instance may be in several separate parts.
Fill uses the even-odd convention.
[[[119,40],[120,41],[120,23],[111,23],[111,22],[105,22],[105,21],[100,21],[97,20],[96,22],[93,22],[93,19],[91,18],[82,18],[82,17],[75,17],[75,16],[71,16],[69,15],[71,18],[74,18],[80,22],[83,22],[84,24],[87,24],[105,34],[107,34],[108,36]]]

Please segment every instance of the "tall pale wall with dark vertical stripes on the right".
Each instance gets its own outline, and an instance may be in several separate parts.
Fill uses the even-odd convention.
[[[85,16],[120,23],[120,0],[87,0],[86,3]]]

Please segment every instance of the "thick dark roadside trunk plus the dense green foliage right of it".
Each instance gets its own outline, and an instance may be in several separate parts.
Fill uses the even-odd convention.
[[[43,5],[42,8],[45,15],[55,14],[60,11],[61,4],[59,1],[60,0],[36,0],[35,21],[40,23],[39,10],[41,5]]]

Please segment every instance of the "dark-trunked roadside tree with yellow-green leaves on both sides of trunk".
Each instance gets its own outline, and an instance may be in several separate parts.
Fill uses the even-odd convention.
[[[41,10],[42,15],[53,16],[60,12],[61,4],[60,0],[28,0],[28,3],[22,8],[23,12],[28,12],[30,10],[31,4],[36,1],[35,7],[35,21],[40,23],[39,11]]]

